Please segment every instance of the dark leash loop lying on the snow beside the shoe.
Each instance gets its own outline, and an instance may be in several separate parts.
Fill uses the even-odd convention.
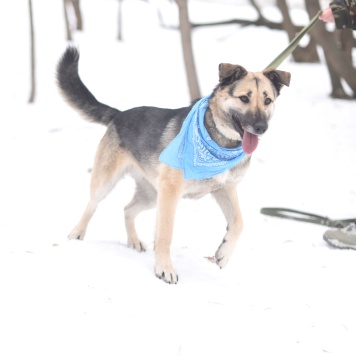
[[[331,220],[327,216],[321,216],[321,215],[306,213],[304,211],[287,209],[287,208],[262,208],[260,210],[260,213],[273,217],[283,218],[283,219],[303,221],[312,224],[318,224],[318,225],[324,225],[324,226],[336,227],[336,228],[346,227],[347,225],[356,221],[356,218]]]

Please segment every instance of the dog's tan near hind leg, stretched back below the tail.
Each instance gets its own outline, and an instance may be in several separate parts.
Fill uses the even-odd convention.
[[[83,240],[98,204],[112,191],[127,167],[129,158],[117,145],[113,146],[113,137],[107,131],[95,155],[88,205],[78,224],[68,235],[70,240]]]

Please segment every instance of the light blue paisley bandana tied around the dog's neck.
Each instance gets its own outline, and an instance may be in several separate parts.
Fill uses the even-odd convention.
[[[186,179],[207,179],[223,173],[240,162],[246,153],[242,146],[223,148],[209,136],[204,114],[209,96],[200,99],[188,113],[179,134],[161,153],[159,160],[182,169]]]

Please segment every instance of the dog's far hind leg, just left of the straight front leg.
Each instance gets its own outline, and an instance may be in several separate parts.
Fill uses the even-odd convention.
[[[136,216],[142,211],[156,206],[157,192],[144,178],[136,180],[136,193],[131,202],[125,206],[125,225],[127,246],[138,252],[146,251],[146,246],[137,236],[135,227]]]

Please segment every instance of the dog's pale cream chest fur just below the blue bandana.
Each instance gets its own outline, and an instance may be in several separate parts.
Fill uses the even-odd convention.
[[[236,185],[244,177],[249,167],[250,157],[228,171],[203,180],[187,180],[184,186],[184,198],[200,199],[203,196],[224,188],[226,185]]]

